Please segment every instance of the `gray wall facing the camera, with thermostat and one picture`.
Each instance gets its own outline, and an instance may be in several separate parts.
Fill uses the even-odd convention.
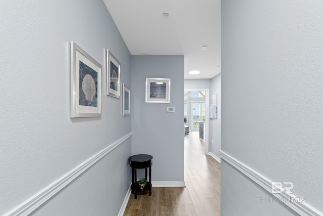
[[[184,56],[132,56],[131,73],[132,153],[153,156],[152,181],[183,182]],[[145,103],[146,77],[171,78],[171,103]]]

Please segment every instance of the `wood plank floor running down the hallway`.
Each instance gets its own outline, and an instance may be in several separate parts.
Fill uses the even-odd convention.
[[[184,138],[186,187],[152,188],[134,199],[131,194],[125,216],[220,216],[220,163],[204,153],[198,132]]]

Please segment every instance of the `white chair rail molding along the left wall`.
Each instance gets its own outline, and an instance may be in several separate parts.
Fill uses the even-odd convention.
[[[34,196],[30,197],[25,202],[21,203],[14,209],[10,210],[9,212],[5,213],[3,216],[20,216],[20,215],[28,215],[34,210],[36,210],[41,204],[46,202],[52,196],[60,192],[63,188],[65,188],[70,182],[74,179],[79,177],[83,172],[85,172],[88,168],[90,168],[93,164],[95,164],[98,160],[104,157],[106,154],[111,152],[113,149],[117,148],[120,144],[126,141],[129,137],[132,136],[132,133],[127,134],[120,140],[116,141],[115,143],[111,144],[110,146],[106,147],[105,149],[101,150],[97,154],[93,155],[66,175],[61,177],[60,179],[56,180],[55,182],[51,183]]]

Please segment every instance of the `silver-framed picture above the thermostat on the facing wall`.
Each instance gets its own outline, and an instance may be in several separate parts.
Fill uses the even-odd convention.
[[[170,96],[170,78],[146,78],[146,103],[170,103]]]

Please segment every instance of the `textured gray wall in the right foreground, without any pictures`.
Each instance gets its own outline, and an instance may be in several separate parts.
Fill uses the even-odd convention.
[[[322,20],[319,0],[222,2],[222,150],[271,181],[293,182],[293,194],[320,211]],[[232,166],[221,172],[221,215],[294,214],[260,205],[267,192]]]

